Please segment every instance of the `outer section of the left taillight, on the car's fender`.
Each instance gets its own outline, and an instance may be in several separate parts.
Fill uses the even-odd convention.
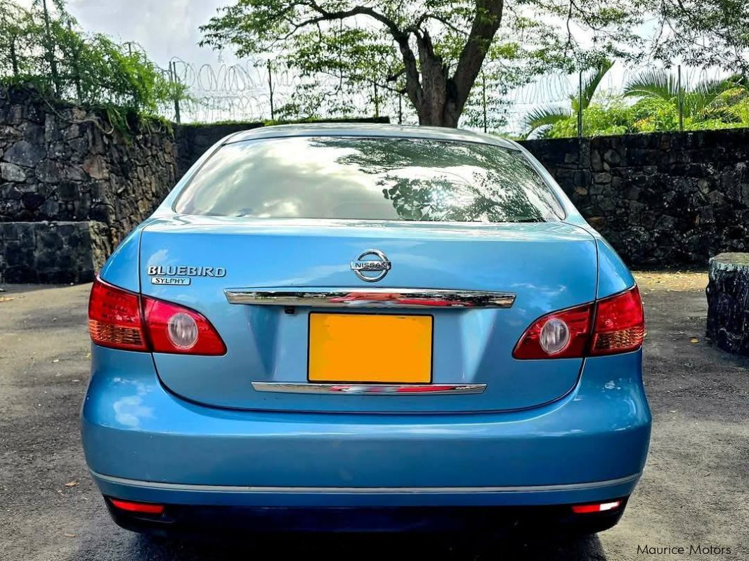
[[[148,351],[139,296],[98,278],[88,298],[88,331],[97,345]]]

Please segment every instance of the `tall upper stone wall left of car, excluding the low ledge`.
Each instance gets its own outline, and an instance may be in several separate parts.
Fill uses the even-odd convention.
[[[102,117],[0,89],[0,222],[99,221],[116,244],[152,212],[178,177],[172,132]]]

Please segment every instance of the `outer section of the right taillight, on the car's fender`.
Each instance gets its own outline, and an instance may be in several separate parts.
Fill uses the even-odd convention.
[[[598,302],[591,355],[639,349],[645,338],[645,314],[637,286]]]

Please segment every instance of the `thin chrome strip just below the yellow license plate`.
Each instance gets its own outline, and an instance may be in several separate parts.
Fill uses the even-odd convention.
[[[315,384],[285,381],[253,381],[256,391],[275,393],[329,393],[358,396],[434,396],[484,393],[486,384]]]

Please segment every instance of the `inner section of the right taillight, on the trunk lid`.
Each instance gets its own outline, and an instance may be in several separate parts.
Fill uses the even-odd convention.
[[[592,304],[585,304],[549,313],[533,322],[533,325],[523,334],[512,356],[515,358],[574,358],[583,356],[589,342],[590,316]],[[550,328],[554,328],[550,330]],[[560,328],[566,332],[566,343],[559,339]],[[556,348],[546,340],[549,336],[546,331],[557,333]],[[562,335],[564,331],[562,331]],[[550,352],[551,351],[551,352]],[[556,352],[554,352],[556,351]]]

